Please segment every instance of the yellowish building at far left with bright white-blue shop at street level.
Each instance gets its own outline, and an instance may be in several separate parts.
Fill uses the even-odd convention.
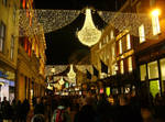
[[[18,0],[0,0],[0,98],[10,102],[15,97],[19,7]]]

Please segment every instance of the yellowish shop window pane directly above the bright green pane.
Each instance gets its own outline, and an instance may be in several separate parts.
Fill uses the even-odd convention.
[[[158,78],[158,67],[157,62],[152,62],[147,64],[148,79]]]

